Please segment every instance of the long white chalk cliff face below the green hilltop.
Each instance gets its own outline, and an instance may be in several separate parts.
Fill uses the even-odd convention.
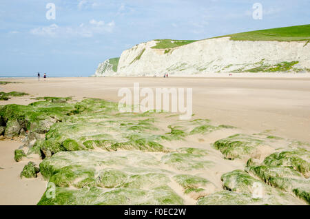
[[[158,41],[149,41],[125,50],[117,72],[102,71],[104,67],[100,72],[105,76],[310,72],[310,43],[307,41],[234,41],[230,37],[221,37],[176,48],[152,48],[156,43]]]

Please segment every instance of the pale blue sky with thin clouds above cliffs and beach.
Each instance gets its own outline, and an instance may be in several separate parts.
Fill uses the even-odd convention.
[[[90,76],[138,43],[309,24],[309,8],[309,0],[0,0],[0,76]]]

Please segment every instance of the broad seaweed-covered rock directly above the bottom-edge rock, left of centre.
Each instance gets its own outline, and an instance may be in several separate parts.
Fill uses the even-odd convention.
[[[112,167],[149,168],[157,167],[159,164],[156,158],[142,152],[75,151],[59,152],[51,158],[45,158],[40,163],[40,169],[44,178],[59,186],[78,185],[79,182],[92,178],[98,186],[105,187],[105,185],[115,184],[114,177],[111,178],[112,182],[107,183],[105,181],[107,179],[102,178],[105,174],[112,176],[121,174],[121,170],[113,171],[114,174],[112,174]],[[110,171],[106,172],[107,168],[110,168]],[[125,180],[119,183],[125,183]]]

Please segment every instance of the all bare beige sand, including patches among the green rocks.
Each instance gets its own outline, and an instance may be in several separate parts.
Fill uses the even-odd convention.
[[[193,113],[197,118],[209,118],[212,122],[234,125],[244,133],[272,130],[271,134],[284,138],[310,142],[310,78],[273,77],[256,78],[51,78],[2,79],[19,81],[1,85],[3,92],[27,92],[30,96],[12,97],[0,104],[29,104],[38,96],[73,96],[74,100],[86,97],[119,101],[118,89],[132,88],[136,82],[140,87],[184,87],[193,88]],[[229,133],[226,133],[227,136]],[[225,137],[225,133],[210,134],[204,143]],[[209,142],[210,141],[210,142]],[[14,140],[0,141],[0,205],[35,205],[45,191],[47,183],[39,175],[37,179],[21,180],[19,174],[29,160],[14,161],[14,149],[22,144]],[[199,146],[198,143],[196,145]],[[210,148],[211,149],[211,148]],[[214,159],[220,153],[214,151]],[[217,153],[217,154],[216,154]],[[34,159],[34,161],[36,161]],[[39,161],[39,160],[37,160]],[[227,167],[223,161],[223,167]],[[242,164],[236,162],[236,167]],[[215,169],[216,170],[216,169]],[[225,169],[219,168],[218,174]],[[220,182],[219,182],[220,183]],[[188,203],[190,204],[190,203]]]

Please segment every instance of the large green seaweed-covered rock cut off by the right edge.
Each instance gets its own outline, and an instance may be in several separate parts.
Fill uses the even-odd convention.
[[[284,149],[267,156],[260,165],[247,167],[246,171],[255,174],[265,183],[292,192],[310,203],[309,158],[307,149]]]

